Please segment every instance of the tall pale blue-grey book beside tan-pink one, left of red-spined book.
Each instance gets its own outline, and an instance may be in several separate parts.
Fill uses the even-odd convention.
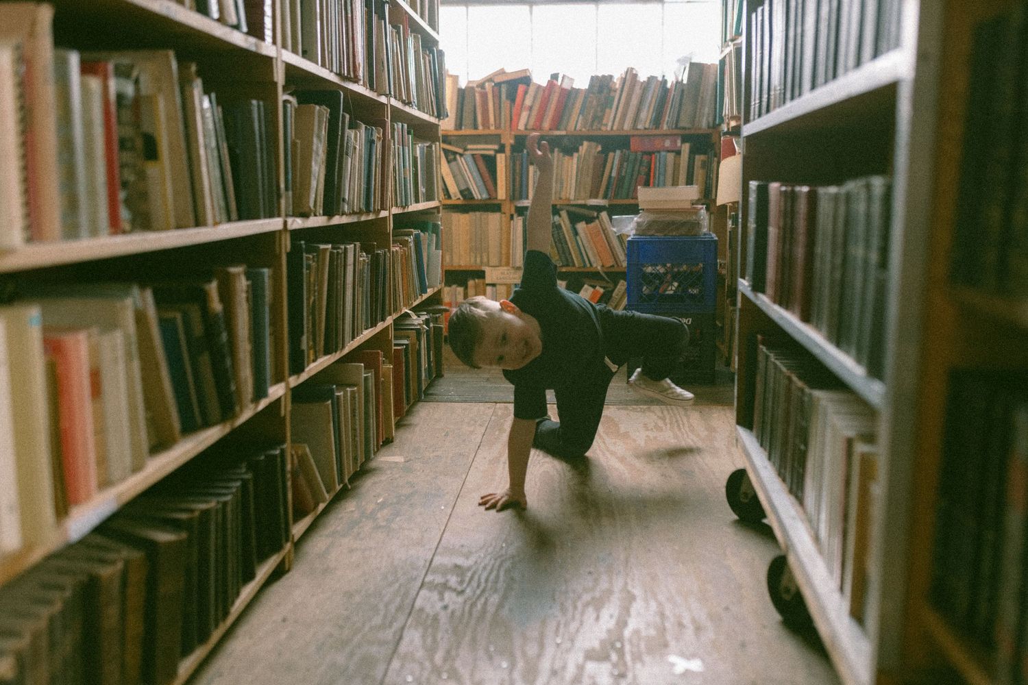
[[[78,52],[53,50],[53,105],[57,114],[61,237],[88,237],[85,204],[85,150]]]

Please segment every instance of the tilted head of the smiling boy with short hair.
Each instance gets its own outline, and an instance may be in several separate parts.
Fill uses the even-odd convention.
[[[543,351],[539,326],[509,300],[465,300],[450,314],[449,343],[472,369],[520,369]]]

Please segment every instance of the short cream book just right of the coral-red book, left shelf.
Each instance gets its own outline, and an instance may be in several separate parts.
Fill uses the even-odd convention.
[[[118,329],[103,331],[97,337],[97,344],[100,351],[100,383],[103,386],[104,435],[107,447],[107,472],[98,473],[98,477],[101,484],[114,485],[132,473],[124,336]]]

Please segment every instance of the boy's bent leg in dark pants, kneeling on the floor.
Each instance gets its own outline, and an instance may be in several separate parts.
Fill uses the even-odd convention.
[[[574,459],[584,455],[596,437],[599,419],[612,374],[603,374],[607,382],[585,387],[556,390],[557,418],[543,419],[536,426],[533,446],[555,457]]]

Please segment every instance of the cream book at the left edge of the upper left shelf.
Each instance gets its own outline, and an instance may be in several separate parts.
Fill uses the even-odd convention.
[[[21,44],[0,43],[0,250],[20,248],[29,229]]]

